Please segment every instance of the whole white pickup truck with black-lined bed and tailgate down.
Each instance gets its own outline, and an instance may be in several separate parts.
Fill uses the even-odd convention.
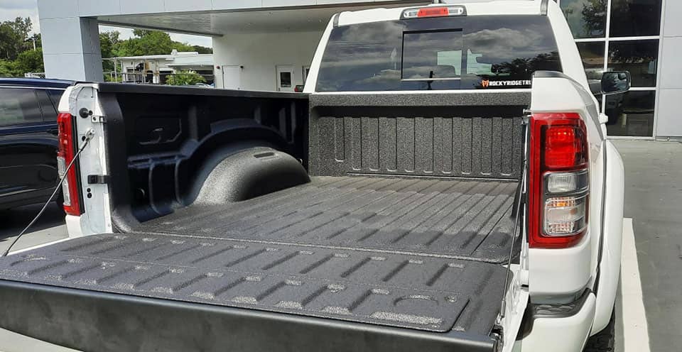
[[[70,238],[0,260],[0,326],[84,351],[612,351],[623,165],[594,94],[627,89],[588,82],[547,0],[338,13],[304,94],[77,84]]]

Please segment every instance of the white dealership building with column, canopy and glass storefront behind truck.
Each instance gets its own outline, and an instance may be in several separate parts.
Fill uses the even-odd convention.
[[[461,2],[475,2],[469,0]],[[503,0],[504,1],[504,0]],[[530,0],[529,0],[530,1]],[[552,1],[552,0],[550,0]],[[590,78],[627,70],[598,97],[610,136],[682,138],[682,1],[558,0]],[[446,1],[457,2],[457,1]],[[427,4],[386,0],[38,0],[47,77],[102,80],[99,24],[213,38],[215,86],[293,91],[334,13]]]

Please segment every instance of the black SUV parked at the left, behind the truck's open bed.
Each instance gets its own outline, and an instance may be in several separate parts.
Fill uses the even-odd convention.
[[[0,78],[0,210],[52,194],[59,180],[57,106],[73,83]]]

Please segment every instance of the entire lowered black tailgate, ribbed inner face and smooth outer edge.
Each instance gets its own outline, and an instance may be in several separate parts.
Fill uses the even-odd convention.
[[[161,343],[175,351],[227,340],[245,349],[271,348],[273,341],[305,348],[298,343],[308,339],[320,349],[374,346],[350,339],[360,334],[386,339],[394,351],[402,350],[389,341],[397,336],[428,341],[436,350],[489,351],[506,269],[419,255],[128,233],[12,255],[0,262],[0,273],[2,327],[84,350]],[[270,336],[274,331],[260,324],[301,340]],[[311,331],[334,337],[318,340]]]

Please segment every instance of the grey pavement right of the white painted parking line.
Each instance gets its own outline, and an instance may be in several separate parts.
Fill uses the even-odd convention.
[[[625,216],[634,224],[651,351],[682,351],[682,143],[614,144],[625,165]]]

